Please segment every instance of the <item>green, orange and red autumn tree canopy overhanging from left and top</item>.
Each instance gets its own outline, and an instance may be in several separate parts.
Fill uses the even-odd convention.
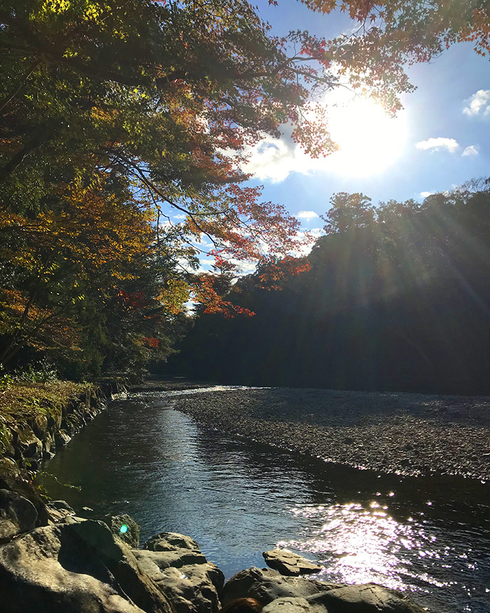
[[[395,112],[403,61],[488,46],[483,2],[305,4],[360,29],[274,36],[246,0],[0,3],[0,363],[26,348],[94,372],[165,356],[190,296],[250,314],[222,299],[239,260],[264,278],[304,262],[297,220],[244,184],[246,147],[290,123],[326,155],[325,90]],[[198,272],[202,252],[216,274]]]

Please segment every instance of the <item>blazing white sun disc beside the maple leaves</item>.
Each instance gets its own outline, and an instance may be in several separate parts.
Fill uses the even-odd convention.
[[[340,150],[326,165],[342,175],[378,175],[402,154],[407,140],[405,116],[388,116],[363,97],[330,107],[330,134]]]

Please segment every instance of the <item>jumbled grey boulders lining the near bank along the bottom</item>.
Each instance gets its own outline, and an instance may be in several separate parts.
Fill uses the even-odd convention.
[[[139,528],[127,515],[80,517],[61,500],[43,511],[41,518],[29,499],[0,489],[2,613],[218,613],[244,597],[265,613],[425,610],[374,584],[300,579],[318,567],[284,551],[264,554],[279,572],[253,567],[224,584],[223,572],[183,534],[162,532],[140,549]]]

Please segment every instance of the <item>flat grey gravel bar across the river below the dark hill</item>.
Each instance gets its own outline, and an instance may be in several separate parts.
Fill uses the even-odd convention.
[[[172,399],[207,426],[328,462],[490,480],[490,398],[239,389]]]

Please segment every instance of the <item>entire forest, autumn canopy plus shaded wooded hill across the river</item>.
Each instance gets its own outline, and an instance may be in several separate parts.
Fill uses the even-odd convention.
[[[0,3],[3,375],[162,368],[193,302],[172,368],[194,376],[486,390],[486,187],[377,209],[337,194],[304,260],[244,161],[286,124],[311,156],[335,151],[318,101],[346,83],[395,114],[404,66],[461,41],[488,53],[488,8],[304,4],[358,29],[276,36],[245,0]]]

